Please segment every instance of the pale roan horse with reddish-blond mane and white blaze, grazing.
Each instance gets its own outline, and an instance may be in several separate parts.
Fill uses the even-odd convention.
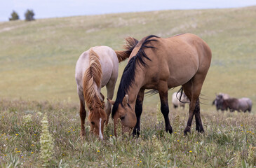
[[[111,113],[111,104],[105,106],[101,88],[107,87],[107,98],[112,99],[114,87],[119,73],[119,62],[129,57],[136,43],[135,38],[127,38],[125,51],[114,51],[107,46],[90,48],[76,62],[76,84],[80,99],[81,136],[86,135],[84,127],[86,119],[86,106],[89,109],[88,120],[90,131],[103,139],[104,124],[108,123]]]

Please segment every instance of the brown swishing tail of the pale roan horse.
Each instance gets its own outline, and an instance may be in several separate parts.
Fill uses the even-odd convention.
[[[139,43],[139,41],[137,41],[137,39],[135,39],[133,37],[126,38],[126,45],[123,46],[123,48],[125,50],[115,51],[117,58],[119,59],[119,62],[122,62],[122,61],[128,59],[128,57],[130,57],[130,53],[133,51],[133,49],[135,48],[137,43]]]

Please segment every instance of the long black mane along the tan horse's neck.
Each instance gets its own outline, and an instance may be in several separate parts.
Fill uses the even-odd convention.
[[[156,39],[150,39],[150,38],[159,38],[158,36],[150,35],[145,38],[143,41],[140,50],[138,50],[137,54],[130,59],[128,64],[126,65],[126,68],[123,70],[123,75],[120,81],[119,90],[117,91],[116,96],[116,102],[114,103],[113,109],[112,109],[112,118],[114,118],[114,115],[117,111],[117,108],[119,104],[123,106],[122,101],[123,97],[127,94],[127,91],[129,90],[130,86],[133,85],[133,82],[135,80],[135,69],[136,69],[136,62],[139,64],[139,66],[147,66],[146,62],[144,62],[144,59],[149,59],[147,57],[146,53],[144,52],[144,48],[155,48],[154,46],[147,45],[147,43],[151,41],[157,41]]]

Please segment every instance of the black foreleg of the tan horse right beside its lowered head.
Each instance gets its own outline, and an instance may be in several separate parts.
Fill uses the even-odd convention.
[[[140,92],[137,94],[137,99],[135,104],[135,114],[137,118],[137,123],[133,129],[133,136],[140,135],[140,116],[142,114],[143,99],[144,99],[144,89],[140,89]]]

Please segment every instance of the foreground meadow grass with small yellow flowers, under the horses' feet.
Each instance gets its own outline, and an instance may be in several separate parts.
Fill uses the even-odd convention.
[[[100,141],[89,134],[79,138],[76,105],[67,102],[0,101],[0,167],[41,167],[41,120],[47,113],[54,141],[50,167],[253,167],[256,164],[255,114],[202,112],[203,134],[183,135],[188,113],[171,108],[172,135],[164,132],[156,107],[146,107],[139,138],[113,137],[113,123]],[[30,116],[31,120],[26,119]],[[157,123],[157,121],[160,121]],[[107,133],[107,134],[106,134]],[[252,157],[249,157],[252,155]],[[253,161],[253,159],[255,159]]]

